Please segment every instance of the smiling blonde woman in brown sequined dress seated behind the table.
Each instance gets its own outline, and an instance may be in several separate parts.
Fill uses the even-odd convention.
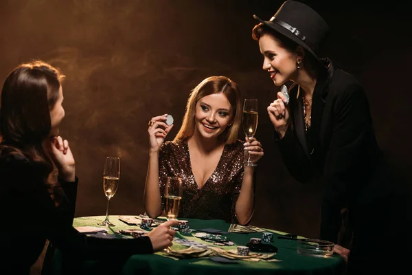
[[[150,217],[163,211],[167,177],[183,179],[179,217],[222,219],[247,224],[253,215],[253,173],[244,166],[244,152],[258,162],[263,149],[255,138],[238,140],[242,99],[238,85],[225,76],[211,76],[197,85],[187,101],[183,125],[173,141],[164,139],[173,127],[166,115],[149,122],[150,158],[144,207]]]

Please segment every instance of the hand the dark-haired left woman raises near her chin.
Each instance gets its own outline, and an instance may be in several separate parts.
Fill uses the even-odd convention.
[[[53,136],[45,141],[45,147],[58,168],[60,177],[65,181],[74,181],[76,177],[76,168],[69,142],[63,140],[60,136]]]

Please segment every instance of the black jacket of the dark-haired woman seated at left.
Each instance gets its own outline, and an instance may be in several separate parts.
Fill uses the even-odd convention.
[[[30,266],[43,250],[46,239],[69,257],[76,270],[84,259],[152,253],[148,236],[137,239],[98,239],[73,228],[78,179],[60,180],[64,191],[55,206],[41,168],[23,155],[8,152],[0,144],[0,274],[29,274]],[[111,259],[111,258],[110,258]],[[9,273],[10,272],[10,273]],[[69,271],[68,271],[69,272]],[[78,274],[78,273],[76,273]]]

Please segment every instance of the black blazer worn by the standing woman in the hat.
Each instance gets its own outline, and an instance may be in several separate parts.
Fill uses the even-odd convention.
[[[304,129],[302,92],[290,87],[292,124],[279,140],[290,174],[301,182],[325,181],[321,209],[321,239],[336,243],[341,209],[374,203],[393,190],[372,127],[363,87],[354,76],[334,69],[319,77],[312,96],[311,126]]]

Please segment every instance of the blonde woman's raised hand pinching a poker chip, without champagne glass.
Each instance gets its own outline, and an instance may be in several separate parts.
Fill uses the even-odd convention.
[[[149,140],[150,140],[150,151],[157,152],[161,144],[163,144],[166,135],[170,132],[173,127],[165,123],[166,116],[168,114],[155,116],[149,122]]]

